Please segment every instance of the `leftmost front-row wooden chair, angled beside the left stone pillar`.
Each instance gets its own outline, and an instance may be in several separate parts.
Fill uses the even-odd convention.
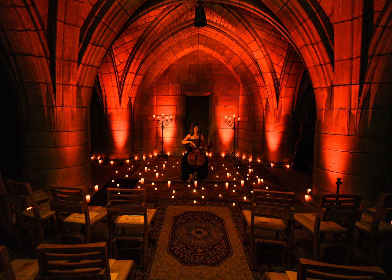
[[[27,231],[34,248],[42,241],[44,222],[54,223],[54,212],[49,209],[49,202],[36,203],[29,183],[5,181],[7,203],[7,230],[12,228],[15,215],[15,233],[20,247],[20,229]],[[20,247],[21,248],[21,247]]]

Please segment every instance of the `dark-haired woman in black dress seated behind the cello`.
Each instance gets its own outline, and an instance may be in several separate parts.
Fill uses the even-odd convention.
[[[204,140],[203,135],[199,135],[199,124],[194,122],[191,125],[191,131],[181,142],[182,144],[189,144],[187,153],[182,158],[181,180],[187,180],[187,182],[191,182],[193,178],[193,171],[194,180],[207,178],[208,157],[204,153],[201,153],[202,156],[204,156],[204,164],[201,167],[194,168],[194,166],[191,166],[187,160],[189,153],[192,152],[192,147],[194,147],[196,145],[195,143],[198,142],[199,136],[202,140]]]

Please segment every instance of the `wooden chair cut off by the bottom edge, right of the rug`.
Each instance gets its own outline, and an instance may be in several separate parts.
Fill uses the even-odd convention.
[[[299,258],[298,271],[266,272],[268,280],[384,280],[385,272],[375,266],[326,264]]]

